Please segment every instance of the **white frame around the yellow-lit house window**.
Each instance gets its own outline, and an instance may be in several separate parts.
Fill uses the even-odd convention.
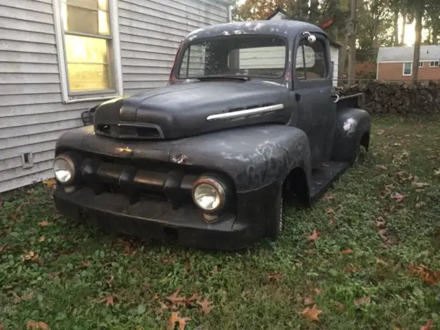
[[[113,63],[109,63],[113,89],[98,91],[70,91],[69,74],[67,69],[67,54],[65,52],[65,32],[63,20],[61,19],[61,8],[63,0],[52,0],[54,8],[55,39],[58,55],[58,70],[60,74],[61,96],[64,103],[86,102],[96,100],[109,100],[124,93],[122,85],[122,65],[120,55],[120,35],[118,24],[118,0],[108,0],[109,3],[109,30],[110,36],[102,35],[102,39],[111,40],[110,55]],[[91,34],[75,32],[73,35],[96,37]]]

